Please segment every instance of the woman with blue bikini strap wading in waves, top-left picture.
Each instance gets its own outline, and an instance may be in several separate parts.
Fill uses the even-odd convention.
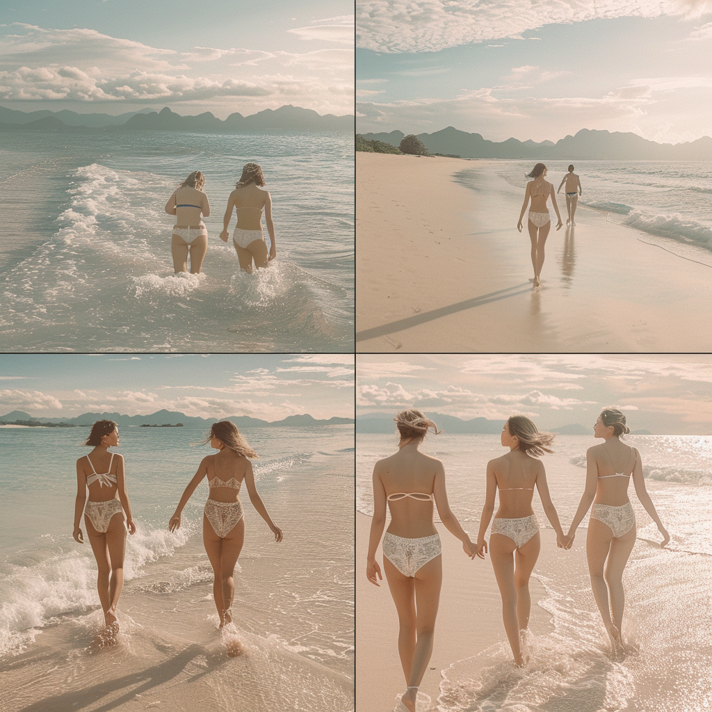
[[[188,271],[190,253],[190,272],[198,274],[208,251],[208,229],[200,217],[201,214],[204,217],[210,214],[208,197],[203,192],[204,185],[205,176],[200,171],[193,171],[179,184],[166,203],[166,212],[176,216],[171,238],[175,273]]]

